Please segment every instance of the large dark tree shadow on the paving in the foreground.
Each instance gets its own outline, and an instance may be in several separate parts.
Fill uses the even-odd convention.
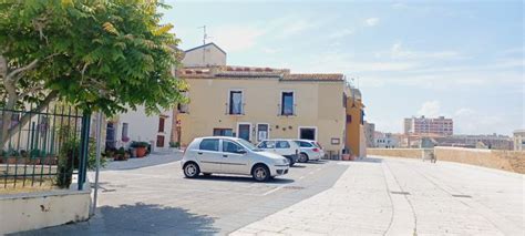
[[[187,209],[157,204],[102,206],[86,223],[69,224],[17,235],[215,235],[215,219]]]

